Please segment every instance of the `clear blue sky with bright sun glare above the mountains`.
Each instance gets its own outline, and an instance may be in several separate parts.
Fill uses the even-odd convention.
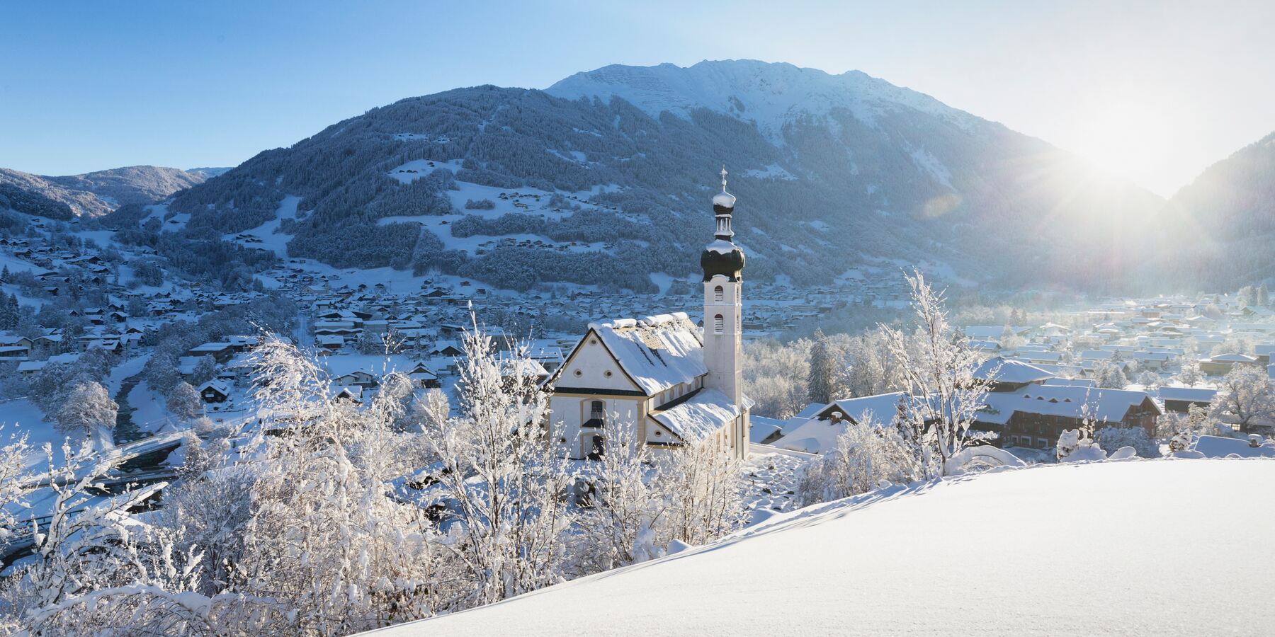
[[[750,57],[858,69],[1168,195],[1275,130],[1272,23],[1269,1],[15,3],[0,166],[233,166],[404,97]]]

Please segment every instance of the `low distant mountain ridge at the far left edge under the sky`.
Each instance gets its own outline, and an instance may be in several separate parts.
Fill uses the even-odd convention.
[[[126,204],[153,204],[173,192],[203,183],[210,172],[187,172],[162,166],[127,166],[84,175],[48,177],[0,168],[0,186],[65,204],[71,214],[98,217]]]

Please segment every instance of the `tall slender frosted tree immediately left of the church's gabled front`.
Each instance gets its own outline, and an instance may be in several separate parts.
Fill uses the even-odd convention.
[[[513,357],[502,361],[477,324],[463,349],[459,417],[422,424],[439,457],[435,502],[456,519],[449,547],[473,582],[467,603],[477,605],[564,578],[574,522],[564,494],[575,475],[550,442],[560,432],[521,354],[528,349],[509,348]]]

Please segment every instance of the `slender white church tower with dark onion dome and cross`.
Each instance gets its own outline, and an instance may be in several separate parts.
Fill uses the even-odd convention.
[[[743,405],[742,292],[743,251],[731,240],[731,215],[734,195],[725,191],[725,167],[722,168],[722,192],[713,196],[717,217],[715,238],[700,255],[704,268],[704,364],[709,369],[705,386],[725,394],[736,405]],[[747,415],[741,419],[747,423]],[[746,427],[746,424],[743,426]],[[740,441],[741,446],[745,445]]]

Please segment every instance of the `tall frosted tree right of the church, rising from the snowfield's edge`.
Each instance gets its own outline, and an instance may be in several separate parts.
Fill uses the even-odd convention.
[[[927,475],[943,475],[947,460],[965,447],[969,427],[983,408],[988,381],[974,377],[979,357],[968,340],[947,322],[943,294],[924,275],[908,278],[917,329],[881,326],[912,397],[900,403],[904,434],[918,443]]]

